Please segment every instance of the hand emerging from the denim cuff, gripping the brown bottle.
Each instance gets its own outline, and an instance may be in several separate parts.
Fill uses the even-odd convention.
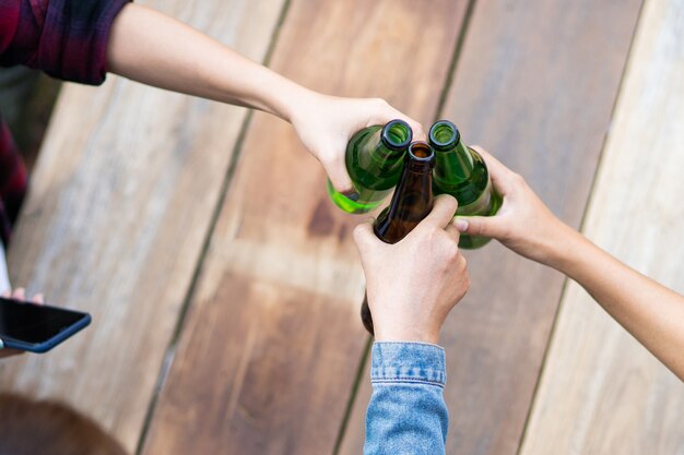
[[[429,215],[394,244],[375,236],[373,220],[354,229],[376,340],[439,340],[441,324],[470,286],[451,223],[457,205],[450,195],[436,197]]]

